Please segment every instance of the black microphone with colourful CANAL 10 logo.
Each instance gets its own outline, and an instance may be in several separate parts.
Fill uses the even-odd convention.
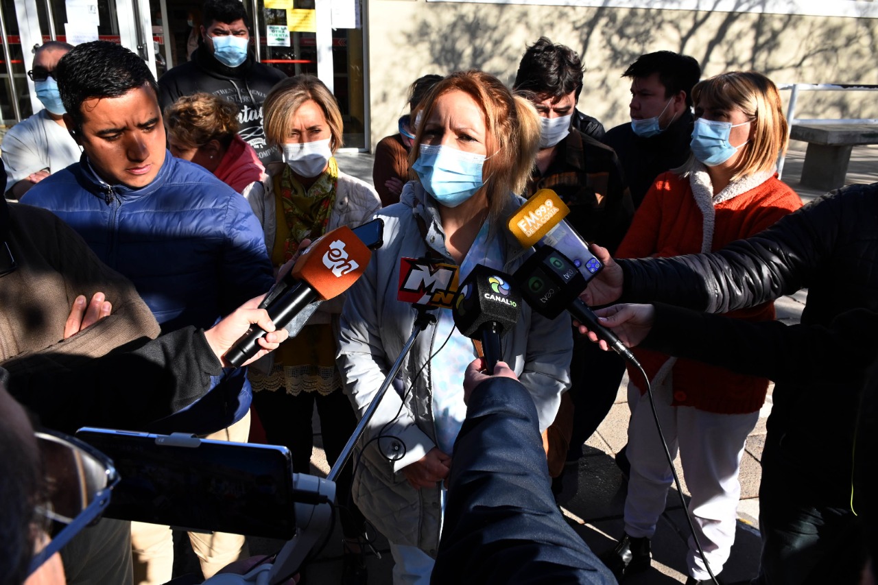
[[[454,324],[464,336],[482,343],[489,374],[502,355],[500,337],[515,327],[521,311],[522,295],[513,278],[484,264],[477,264],[457,291]]]

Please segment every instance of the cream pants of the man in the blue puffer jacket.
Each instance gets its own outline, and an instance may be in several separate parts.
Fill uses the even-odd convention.
[[[217,441],[247,443],[250,435],[250,412],[227,429],[218,430],[204,438]],[[238,559],[249,556],[247,541],[240,534],[212,532],[202,534],[190,532],[192,550],[201,562],[201,572],[205,579],[216,574]],[[135,585],[162,585],[171,580],[174,567],[173,533],[169,526],[131,523],[131,545],[134,565]]]

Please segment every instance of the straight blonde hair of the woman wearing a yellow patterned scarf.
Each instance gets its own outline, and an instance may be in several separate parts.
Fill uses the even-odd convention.
[[[329,147],[333,154],[342,146],[342,112],[335,96],[315,76],[295,76],[283,79],[271,88],[263,103],[263,127],[270,146],[280,147],[286,141],[293,114],[307,101],[320,106],[327,119],[331,139]]]

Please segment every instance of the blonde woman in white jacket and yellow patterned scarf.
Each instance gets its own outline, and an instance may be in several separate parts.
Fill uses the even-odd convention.
[[[342,225],[356,227],[381,207],[378,194],[366,183],[338,170],[335,151],[342,146],[342,113],[335,97],[314,76],[295,76],[275,85],[263,104],[265,136],[278,148],[283,162],[272,162],[269,177],[251,184],[244,197],[263,224],[265,246],[276,270],[299,249]],[[334,321],[344,304],[343,295],[320,305],[298,336],[276,352],[268,373],[249,371],[253,404],[266,438],[292,453],[293,469],[308,473],[311,460],[314,404],[329,464],[335,463],[356,427],[356,417],[342,394],[335,366]],[[342,503],[346,538],[346,583],[364,583],[365,566],[359,554],[358,514],[345,511],[350,467],[336,482]]]

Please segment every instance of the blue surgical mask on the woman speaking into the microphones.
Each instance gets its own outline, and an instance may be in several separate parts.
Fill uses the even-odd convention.
[[[457,207],[482,188],[485,159],[485,155],[457,148],[421,144],[421,155],[412,165],[412,170],[440,205]]]

